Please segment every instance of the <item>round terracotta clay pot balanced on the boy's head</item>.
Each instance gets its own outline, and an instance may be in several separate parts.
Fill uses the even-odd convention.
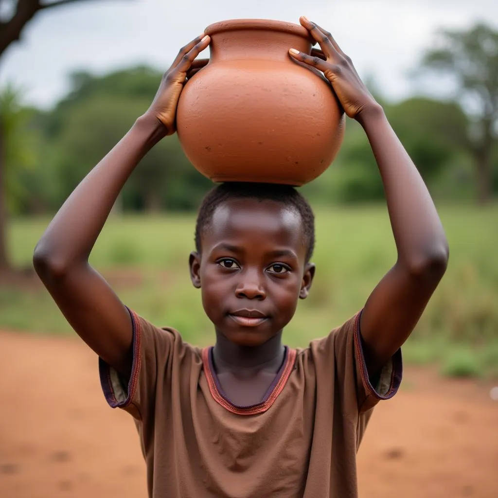
[[[192,164],[214,182],[303,185],[342,142],[344,116],[330,84],[293,61],[313,40],[297,24],[235,19],[211,24],[211,56],[185,85],[177,130]]]

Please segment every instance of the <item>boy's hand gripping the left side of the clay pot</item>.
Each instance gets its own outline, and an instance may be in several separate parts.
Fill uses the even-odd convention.
[[[199,36],[180,49],[171,67],[164,73],[159,89],[145,113],[164,126],[164,135],[171,135],[176,131],[175,117],[178,99],[185,84],[187,74],[197,72],[205,65],[204,61],[194,59],[209,45],[209,36]],[[199,66],[199,63],[202,63]]]

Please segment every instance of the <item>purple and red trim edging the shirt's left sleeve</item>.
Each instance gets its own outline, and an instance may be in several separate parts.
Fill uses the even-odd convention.
[[[99,376],[102,390],[104,391],[104,396],[111,408],[125,408],[131,403],[133,396],[135,395],[136,384],[138,380],[138,374],[140,373],[140,343],[141,343],[141,329],[140,322],[136,314],[126,307],[128,313],[131,317],[131,326],[133,331],[133,362],[131,365],[131,374],[128,381],[128,390],[126,393],[126,399],[123,401],[118,401],[113,388],[113,382],[111,380],[111,369],[112,367],[108,365],[102,358],[99,357]],[[117,375],[117,373],[116,373]]]

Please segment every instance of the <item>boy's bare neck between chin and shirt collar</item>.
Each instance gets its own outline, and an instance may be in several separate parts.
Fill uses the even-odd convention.
[[[277,373],[282,365],[284,354],[282,331],[259,346],[239,346],[229,341],[221,332],[216,331],[213,357],[217,370],[264,369]]]

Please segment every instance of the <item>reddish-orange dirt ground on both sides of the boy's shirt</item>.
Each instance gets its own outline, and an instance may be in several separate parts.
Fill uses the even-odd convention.
[[[134,424],[97,373],[77,338],[0,333],[0,497],[146,497]],[[491,387],[406,369],[360,449],[360,497],[498,497]]]

